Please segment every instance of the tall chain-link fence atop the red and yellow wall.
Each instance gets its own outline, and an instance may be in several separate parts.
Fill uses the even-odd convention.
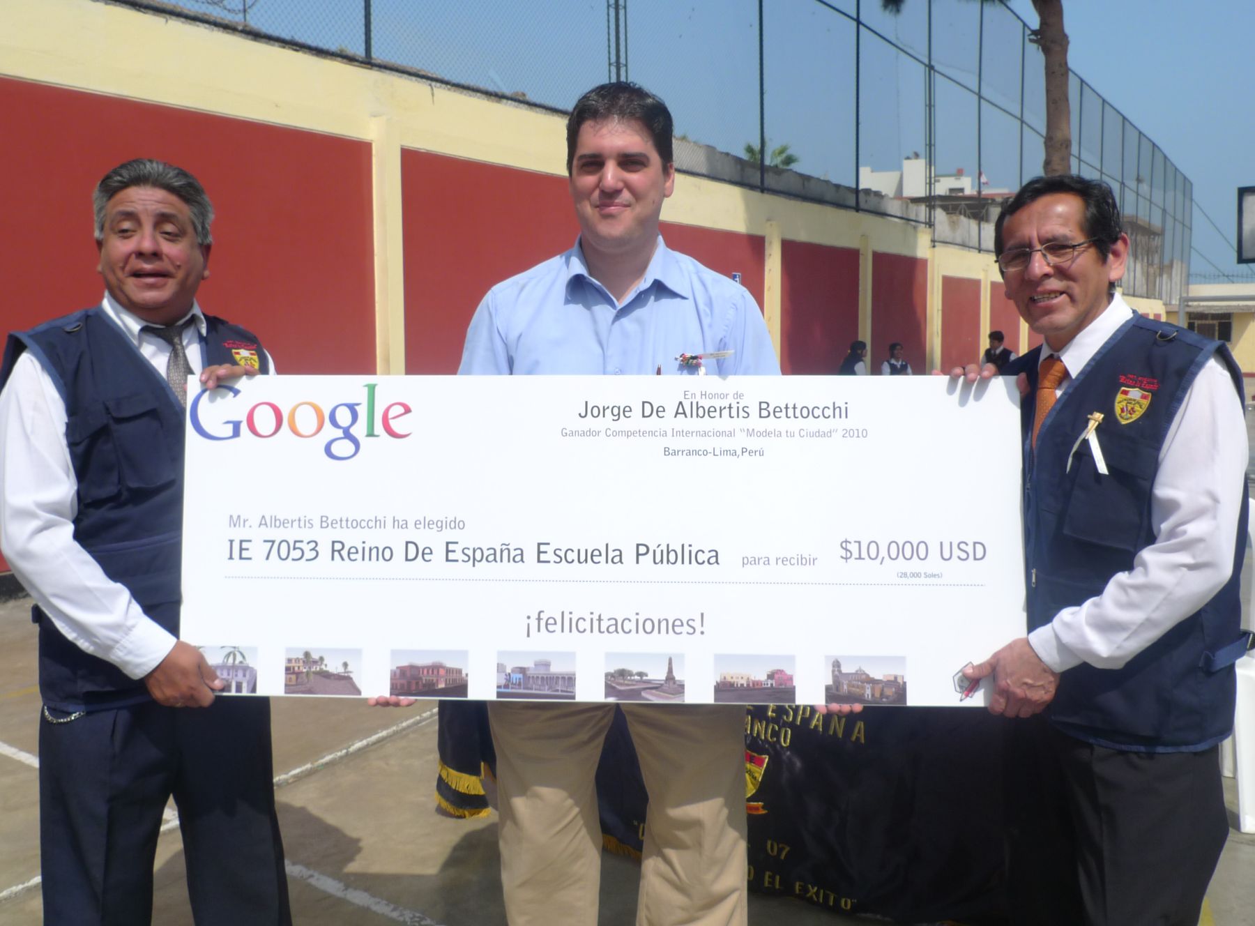
[[[114,0],[566,110],[606,79],[661,95],[681,171],[931,226],[993,250],[1042,172],[1045,78],[1001,3],[904,0]],[[1071,75],[1073,169],[1111,183],[1124,291],[1176,305],[1190,179]]]

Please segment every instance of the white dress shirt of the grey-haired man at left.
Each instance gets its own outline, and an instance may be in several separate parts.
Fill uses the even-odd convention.
[[[108,295],[102,307],[164,378],[169,344],[141,333],[147,322]],[[200,374],[205,315],[193,302],[179,322],[188,316],[196,324],[183,331],[183,348],[192,373]],[[75,542],[78,479],[65,445],[65,403],[51,378],[30,351],[23,353],[0,391],[0,548],[67,639],[141,679],[176,639]]]

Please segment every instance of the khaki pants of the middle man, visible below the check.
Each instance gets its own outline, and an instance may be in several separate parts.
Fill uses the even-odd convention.
[[[638,926],[745,923],[745,709],[624,704],[649,811]],[[488,705],[511,926],[597,921],[610,704]]]

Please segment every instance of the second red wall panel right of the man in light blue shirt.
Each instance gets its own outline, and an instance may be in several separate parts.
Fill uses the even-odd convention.
[[[781,277],[781,368],[836,373],[858,338],[858,251],[783,241]]]

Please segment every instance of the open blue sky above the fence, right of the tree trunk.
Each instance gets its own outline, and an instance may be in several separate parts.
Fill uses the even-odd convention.
[[[1030,0],[1012,0],[1035,24]],[[1251,100],[1250,0],[1064,0],[1068,64],[1194,182],[1194,246],[1240,279],[1255,265],[1235,262],[1237,187],[1255,186],[1255,103]],[[1227,241],[1226,241],[1227,238]],[[1191,271],[1215,274],[1199,255]]]

